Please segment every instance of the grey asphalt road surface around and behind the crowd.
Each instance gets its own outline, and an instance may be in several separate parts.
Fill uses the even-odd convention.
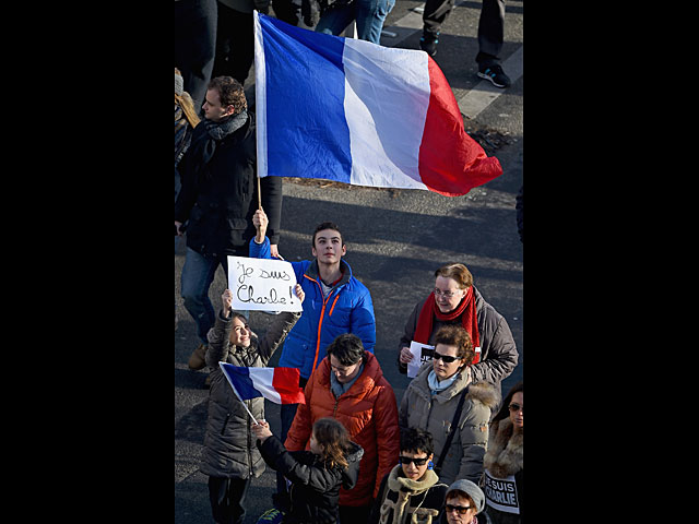
[[[384,31],[386,46],[417,49],[420,16],[412,11],[423,2],[398,0]],[[509,323],[520,352],[514,372],[503,381],[503,393],[522,379],[523,246],[517,231],[516,195],[523,181],[523,1],[510,1],[506,11],[507,90],[497,90],[476,76],[476,29],[479,1],[457,2],[442,26],[436,61],[449,81],[472,135],[485,136],[486,151],[497,156],[503,174],[469,194],[447,198],[430,191],[387,190],[336,183],[284,180],[280,252],[288,261],[310,259],[310,235],[325,219],[335,222],[347,243],[345,260],[370,290],[377,321],[377,355],[400,402],[408,379],[395,366],[399,338],[413,307],[434,285],[434,271],[447,262],[463,262],[475,285]],[[249,92],[253,76],[246,83]],[[206,476],[199,461],[206,420],[206,371],[191,371],[189,355],[197,346],[194,324],[179,297],[183,240],[175,252],[175,523],[213,522]],[[221,303],[226,287],[218,270],[210,297]],[[264,332],[271,317],[251,313],[251,326]],[[275,365],[279,354],[272,359]],[[266,419],[279,434],[279,406],[265,401]],[[252,481],[246,524],[272,507],[274,473],[268,468]]]

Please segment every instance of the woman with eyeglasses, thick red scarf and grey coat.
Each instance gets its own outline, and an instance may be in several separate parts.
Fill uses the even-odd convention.
[[[517,366],[519,353],[507,321],[485,301],[463,264],[438,269],[435,289],[413,309],[399,344],[400,372],[406,373],[413,359],[411,341],[434,346],[435,333],[446,324],[460,324],[471,335],[476,352],[471,365],[473,382],[487,381],[500,391],[500,382]]]

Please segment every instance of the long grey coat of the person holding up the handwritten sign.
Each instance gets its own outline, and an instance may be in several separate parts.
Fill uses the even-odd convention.
[[[229,342],[233,322],[216,317],[209,331],[206,364],[213,368],[209,391],[209,417],[204,434],[201,472],[211,477],[259,477],[264,472],[264,461],[256,446],[250,429],[252,420],[242,402],[226,380],[220,361],[241,367],[266,367],[270,358],[282,344],[300,312],[283,312],[275,317],[264,337],[250,337],[250,346],[234,346]],[[264,398],[244,401],[256,419],[264,418]]]

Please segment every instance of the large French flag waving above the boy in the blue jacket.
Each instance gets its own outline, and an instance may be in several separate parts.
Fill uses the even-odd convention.
[[[502,174],[424,51],[254,12],[258,175],[459,196]]]

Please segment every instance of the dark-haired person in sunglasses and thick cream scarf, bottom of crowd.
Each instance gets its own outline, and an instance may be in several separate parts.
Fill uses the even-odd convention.
[[[433,468],[434,456],[428,431],[401,432],[399,464],[381,480],[368,524],[437,523],[448,486]]]

